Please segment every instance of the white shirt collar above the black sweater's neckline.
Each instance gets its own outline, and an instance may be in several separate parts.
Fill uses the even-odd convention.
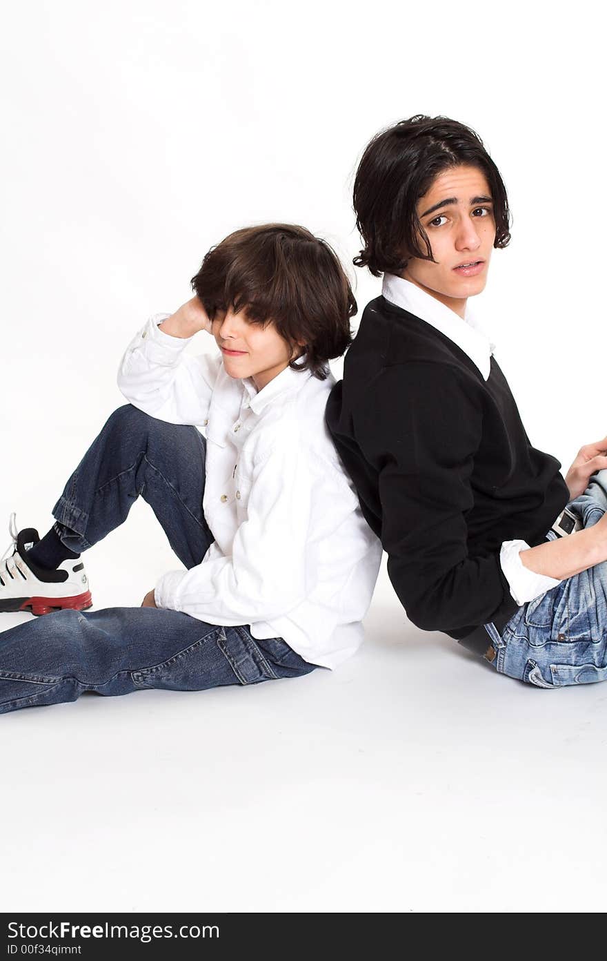
[[[416,283],[405,281],[394,274],[384,274],[381,293],[387,301],[425,320],[435,330],[444,333],[460,350],[470,357],[486,381],[491,372],[491,355],[496,345],[483,331],[480,322],[466,304],[464,318],[441,304]]]

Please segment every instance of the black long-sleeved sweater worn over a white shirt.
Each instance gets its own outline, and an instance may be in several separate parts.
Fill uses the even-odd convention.
[[[531,446],[495,357],[484,381],[449,337],[377,297],[327,424],[409,619],[460,639],[513,614],[501,543],[540,544],[569,490]]]

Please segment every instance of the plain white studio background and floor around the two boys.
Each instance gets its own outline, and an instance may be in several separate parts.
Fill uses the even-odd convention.
[[[121,403],[126,344],[190,295],[211,244],[300,222],[351,262],[356,162],[417,112],[471,125],[508,188],[513,239],[479,300],[532,442],[567,467],[603,436],[595,9],[13,6],[0,522],[16,510],[20,527],[48,529]],[[378,291],[356,271],[360,308]],[[142,504],[85,559],[98,607],[139,604],[175,566]],[[384,573],[367,629],[334,675],[2,716],[4,909],[604,909],[604,686],[494,677],[408,625]]]

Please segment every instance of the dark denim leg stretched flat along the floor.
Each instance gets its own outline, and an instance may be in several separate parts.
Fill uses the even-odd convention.
[[[62,610],[0,633],[0,713],[146,688],[201,691],[314,669],[279,637],[223,628],[181,611]]]

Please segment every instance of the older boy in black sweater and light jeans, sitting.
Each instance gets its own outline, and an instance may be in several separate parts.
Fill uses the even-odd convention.
[[[467,303],[510,239],[496,164],[463,124],[411,117],[367,146],[354,209],[383,288],[327,422],[407,615],[540,687],[607,679],[607,438],[563,480]]]

